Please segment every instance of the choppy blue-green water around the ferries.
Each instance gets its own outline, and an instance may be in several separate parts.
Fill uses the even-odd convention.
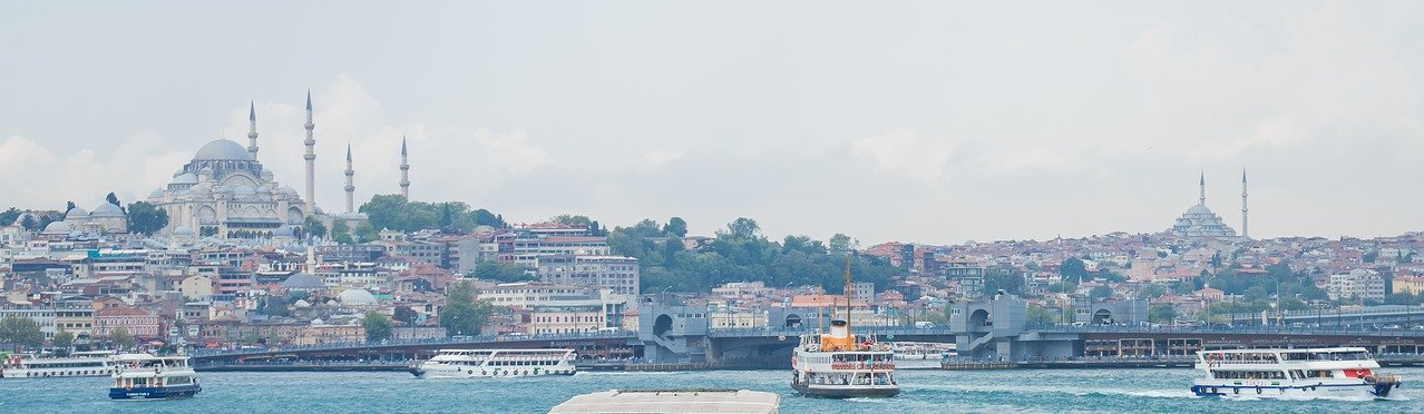
[[[204,373],[192,400],[110,401],[108,378],[0,380],[0,413],[547,413],[608,388],[716,387],[782,394],[782,413],[1424,413],[1424,368],[1390,370],[1390,400],[1219,400],[1188,391],[1193,370],[901,371],[884,400],[799,397],[789,371],[580,373],[417,380],[404,373]],[[1418,396],[1418,397],[1415,397]]]

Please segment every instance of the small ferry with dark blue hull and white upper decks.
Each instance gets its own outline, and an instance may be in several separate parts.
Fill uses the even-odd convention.
[[[114,356],[114,400],[171,400],[187,398],[202,391],[198,374],[185,356],[158,357],[151,354]]]

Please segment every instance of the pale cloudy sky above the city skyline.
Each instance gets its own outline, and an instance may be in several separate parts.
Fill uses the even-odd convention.
[[[205,142],[316,202],[884,240],[1424,229],[1415,1],[13,1],[0,208],[140,201]]]

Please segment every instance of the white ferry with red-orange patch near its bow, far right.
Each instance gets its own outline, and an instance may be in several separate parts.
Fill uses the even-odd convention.
[[[1196,396],[1388,397],[1400,387],[1361,347],[1198,351],[1196,368]]]

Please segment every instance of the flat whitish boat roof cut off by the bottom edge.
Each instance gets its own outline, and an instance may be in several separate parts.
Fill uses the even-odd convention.
[[[609,390],[575,396],[550,414],[776,414],[782,397],[748,390]]]

